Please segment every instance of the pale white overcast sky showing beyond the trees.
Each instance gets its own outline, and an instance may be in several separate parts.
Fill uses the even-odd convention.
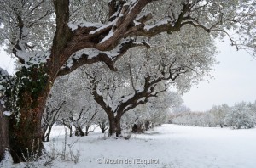
[[[184,104],[193,111],[204,111],[212,105],[228,104],[256,100],[256,60],[245,51],[236,51],[230,42],[218,43],[219,64],[212,72],[214,79],[202,81],[183,95]],[[14,60],[0,53],[0,67],[14,71]]]

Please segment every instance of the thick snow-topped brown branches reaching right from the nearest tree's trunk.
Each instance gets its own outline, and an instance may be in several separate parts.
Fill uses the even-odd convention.
[[[189,7],[189,4],[183,4],[183,10],[179,14],[177,20],[171,21],[170,19],[166,19],[166,22],[161,22],[161,24],[145,26],[144,23],[147,20],[150,20],[152,15],[146,14],[138,19],[136,17],[140,14],[142,9],[152,1],[153,0],[138,0],[137,3],[132,4],[132,8],[125,3],[125,6],[121,5],[119,7],[122,9],[120,14],[107,25],[102,25],[101,27],[84,26],[73,30],[71,40],[62,51],[62,53],[66,55],[63,56],[63,58],[66,58],[66,64],[69,64],[69,66],[65,66],[64,68],[61,66],[62,68],[59,70],[57,76],[66,75],[83,64],[92,64],[98,61],[105,62],[111,70],[116,70],[114,68],[116,60],[124,55],[129,48],[138,46],[135,42],[129,41],[125,44],[121,43],[122,46],[119,47],[120,41],[125,37],[155,36],[164,31],[167,31],[168,33],[179,31],[181,27],[186,24],[195,25],[192,21],[185,22],[186,20],[190,20],[187,15],[191,8]],[[116,1],[111,1],[109,3],[110,8],[113,9],[114,3],[116,3]],[[143,43],[139,45],[142,44]],[[84,53],[81,54],[79,58],[70,58],[74,53],[84,48],[95,48],[98,50],[98,54],[95,55],[94,53],[94,56],[91,56],[88,53]],[[109,53],[108,51],[117,50],[116,48],[118,48],[119,51],[117,52],[118,54],[113,57],[113,55],[111,56],[111,52]],[[73,59],[71,66],[68,58]],[[61,63],[65,64],[66,61]]]

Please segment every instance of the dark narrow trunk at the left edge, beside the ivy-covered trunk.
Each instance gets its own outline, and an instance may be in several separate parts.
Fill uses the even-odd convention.
[[[0,161],[5,150],[9,148],[9,118],[3,115],[3,104],[0,102]]]

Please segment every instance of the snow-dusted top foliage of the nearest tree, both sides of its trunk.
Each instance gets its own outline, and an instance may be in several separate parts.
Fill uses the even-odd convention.
[[[141,8],[138,8],[140,5]],[[52,1],[2,0],[0,8],[0,42],[8,47],[6,50],[9,53],[15,53],[22,64],[40,64],[46,61],[49,53],[45,52],[52,45],[56,29],[54,3]],[[255,36],[253,29],[255,3],[253,1],[223,3],[223,1],[170,2],[165,0],[144,3],[71,0],[68,9],[68,25],[71,30],[75,32],[81,28],[89,28],[90,35],[108,31],[100,41],[102,43],[108,43],[107,41],[111,38],[115,38],[116,30],[125,20],[125,16],[134,13],[136,15],[130,21],[135,32],[129,31],[127,35],[154,36],[160,31],[172,33],[178,31],[178,26],[192,25],[212,32],[213,36],[225,36],[228,31],[234,30],[240,36],[238,39],[230,38],[232,44],[237,44],[237,48],[245,46],[255,48],[253,37]],[[162,28],[164,26],[166,27]],[[124,43],[120,42],[120,44]],[[98,51],[101,49],[95,48],[95,52]],[[86,51],[84,54],[87,55]],[[73,59],[78,60],[79,57]]]

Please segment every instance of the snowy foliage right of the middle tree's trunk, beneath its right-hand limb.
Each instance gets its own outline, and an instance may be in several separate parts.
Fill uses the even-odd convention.
[[[124,129],[132,128],[136,124],[142,126],[141,131],[148,130],[153,126],[159,126],[168,121],[170,110],[183,102],[177,92],[161,92],[157,98],[151,98],[147,104],[131,109],[122,116],[121,125]],[[134,131],[135,132],[135,131]]]

